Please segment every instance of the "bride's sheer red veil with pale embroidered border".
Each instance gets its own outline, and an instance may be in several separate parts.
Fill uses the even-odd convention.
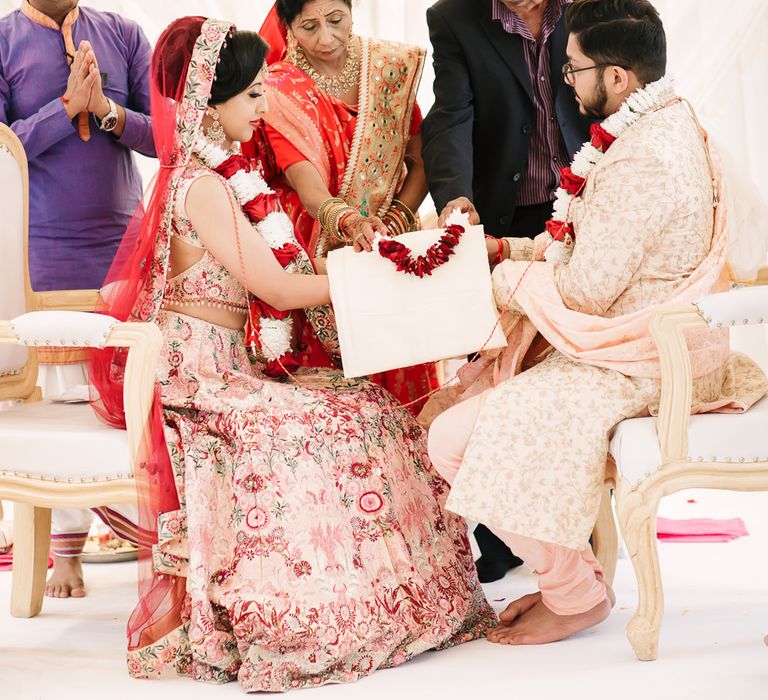
[[[155,320],[166,282],[175,190],[200,129],[228,23],[183,17],[157,41],[151,63],[151,116],[159,170],[148,201],[134,215],[104,282],[97,311],[118,321]],[[125,350],[94,351],[89,362],[92,405],[112,426],[125,428]],[[135,469],[139,507],[139,603],[128,623],[129,650],[162,639],[182,623],[186,579],[158,575],[153,546],[158,516],[179,508],[163,433],[159,389]]]

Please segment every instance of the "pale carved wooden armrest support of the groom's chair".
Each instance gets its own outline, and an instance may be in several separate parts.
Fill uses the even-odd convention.
[[[693,373],[685,331],[706,325],[695,305],[662,309],[651,317],[649,330],[659,351],[661,366],[661,400],[656,433],[664,465],[685,460],[688,455]]]

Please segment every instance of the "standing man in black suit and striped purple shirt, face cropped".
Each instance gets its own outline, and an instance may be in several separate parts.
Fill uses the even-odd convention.
[[[494,236],[535,236],[552,214],[559,171],[589,138],[563,82],[571,0],[439,0],[427,10],[435,103],[422,125],[440,225],[454,208]],[[482,582],[521,564],[475,530]]]

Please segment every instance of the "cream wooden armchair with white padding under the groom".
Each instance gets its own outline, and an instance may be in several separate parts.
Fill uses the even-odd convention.
[[[758,281],[766,280],[762,272]],[[659,501],[691,488],[768,491],[768,397],[742,414],[690,415],[692,378],[684,332],[751,324],[768,324],[768,286],[713,294],[695,305],[657,313],[650,331],[661,359],[659,416],[622,421],[610,442],[595,553],[612,580],[618,549],[610,504],[615,488],[616,513],[638,587],[627,637],[641,661],[656,658],[664,615],[656,540]],[[763,350],[768,334],[761,339]]]

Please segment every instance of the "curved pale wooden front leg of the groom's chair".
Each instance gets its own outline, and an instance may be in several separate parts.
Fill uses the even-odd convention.
[[[654,661],[664,617],[664,589],[656,541],[659,499],[646,494],[643,499],[631,501],[631,504],[622,503],[621,498],[616,501],[622,536],[637,579],[638,604],[627,625],[627,639],[640,661]]]

